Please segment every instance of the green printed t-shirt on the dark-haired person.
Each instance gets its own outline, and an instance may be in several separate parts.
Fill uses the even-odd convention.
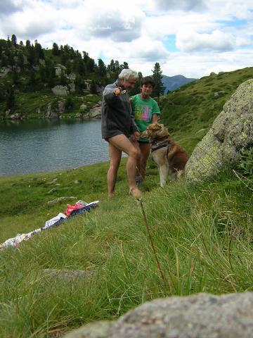
[[[140,132],[144,132],[148,125],[152,123],[152,115],[160,114],[157,101],[149,97],[142,99],[140,94],[131,96],[133,112],[132,115]],[[139,142],[148,142],[148,139],[139,139]]]

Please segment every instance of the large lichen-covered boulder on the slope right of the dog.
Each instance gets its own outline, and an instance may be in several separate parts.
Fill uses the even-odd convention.
[[[253,80],[240,84],[223,111],[195,147],[186,164],[186,179],[205,182],[233,168],[242,147],[253,146]]]

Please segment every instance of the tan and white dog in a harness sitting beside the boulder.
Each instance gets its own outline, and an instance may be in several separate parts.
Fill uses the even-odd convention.
[[[171,181],[182,177],[189,156],[179,144],[173,142],[167,127],[160,123],[152,123],[141,133],[141,138],[147,137],[160,174],[160,186],[164,187],[168,176]]]

